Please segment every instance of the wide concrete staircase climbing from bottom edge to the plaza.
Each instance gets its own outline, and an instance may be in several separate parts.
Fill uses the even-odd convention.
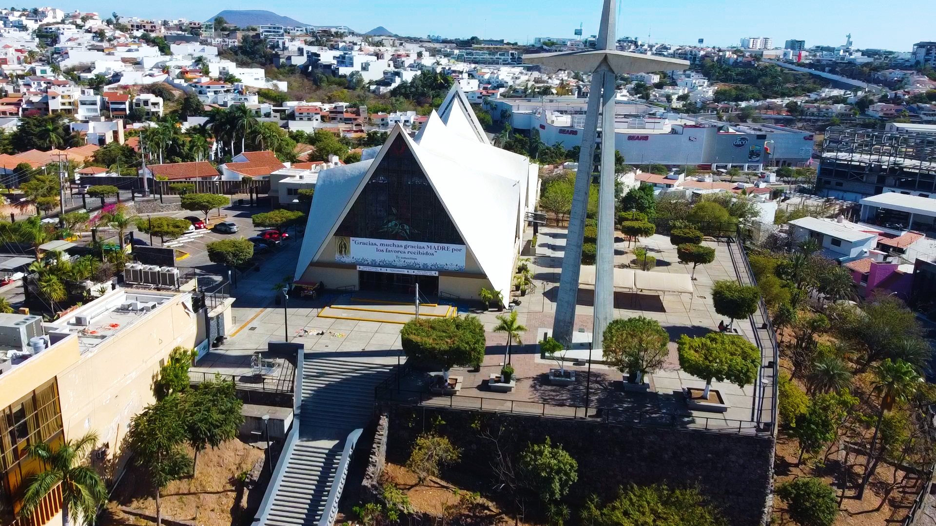
[[[392,369],[339,358],[303,360],[299,438],[283,451],[285,470],[271,485],[269,510],[259,526],[320,524],[329,494],[337,499],[344,487],[346,466],[339,473],[339,464],[348,434],[370,422],[373,387]],[[258,517],[264,517],[264,509]]]

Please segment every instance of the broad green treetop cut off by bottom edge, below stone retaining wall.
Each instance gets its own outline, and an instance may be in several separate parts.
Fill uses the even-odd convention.
[[[605,506],[597,497],[581,511],[582,526],[727,526],[698,489],[631,485]]]

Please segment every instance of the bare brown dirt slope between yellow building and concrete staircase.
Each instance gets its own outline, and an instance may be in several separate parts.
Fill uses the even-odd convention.
[[[191,453],[191,452],[190,452]],[[254,463],[263,459],[263,451],[240,440],[231,440],[217,449],[208,448],[198,455],[196,475],[191,479],[171,482],[162,491],[162,513],[167,519],[191,521],[198,526],[232,526],[250,522],[242,517],[241,504],[246,502],[247,489],[241,489],[238,474],[249,472]],[[257,488],[256,491],[263,491]],[[109,514],[102,526],[144,525],[150,520],[124,513],[130,507],[148,516],[155,516],[156,504],[149,477],[132,466],[108,503]],[[171,524],[171,523],[170,523]]]

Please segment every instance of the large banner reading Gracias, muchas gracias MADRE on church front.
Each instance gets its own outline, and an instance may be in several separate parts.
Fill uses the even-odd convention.
[[[335,261],[370,267],[465,270],[465,245],[419,241],[335,238]]]

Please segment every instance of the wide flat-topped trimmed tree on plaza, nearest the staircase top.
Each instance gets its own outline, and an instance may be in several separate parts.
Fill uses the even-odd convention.
[[[416,361],[450,369],[484,360],[484,326],[475,316],[413,319],[400,329],[400,336],[406,357]]]

